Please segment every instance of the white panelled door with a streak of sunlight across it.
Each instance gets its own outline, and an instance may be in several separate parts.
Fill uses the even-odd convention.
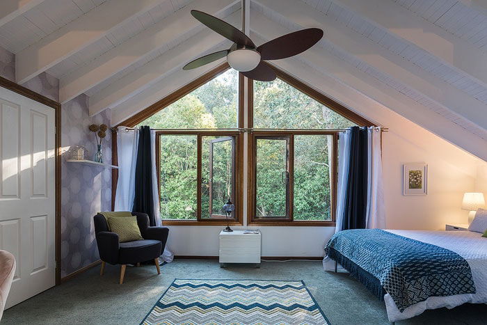
[[[0,249],[17,260],[6,308],[56,282],[54,111],[0,87]]]

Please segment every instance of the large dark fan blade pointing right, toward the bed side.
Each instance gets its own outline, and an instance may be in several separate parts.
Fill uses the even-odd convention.
[[[257,51],[262,60],[278,60],[289,58],[306,51],[323,37],[321,29],[302,29],[266,42]]]

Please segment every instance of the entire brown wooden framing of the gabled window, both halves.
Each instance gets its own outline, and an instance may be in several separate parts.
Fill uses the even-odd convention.
[[[358,115],[357,113],[351,111],[348,109],[346,106],[340,104],[339,102],[336,102],[335,100],[331,99],[330,97],[327,97],[323,93],[321,93],[319,90],[316,90],[312,88],[311,86],[308,86],[307,84],[303,83],[303,81],[300,81],[291,75],[287,74],[286,72],[280,70],[279,68],[276,68],[276,66],[271,65],[269,63],[265,63],[269,65],[274,72],[276,72],[277,76],[279,79],[282,81],[285,81],[287,84],[293,86],[294,88],[300,90],[302,93],[305,93],[305,95],[308,95],[312,99],[316,100],[317,102],[326,105],[329,109],[332,109],[333,111],[339,113],[340,115],[344,116],[344,118],[347,118],[351,120],[352,122],[355,122],[357,125],[361,126],[375,126],[373,122],[370,122],[366,118]],[[214,79],[217,77],[219,74],[222,74],[226,70],[228,70],[230,66],[227,63],[223,63],[221,65],[218,65],[216,68],[210,70],[209,72],[202,74],[201,77],[198,79],[195,79],[194,81],[191,81],[189,84],[186,86],[183,86],[182,88],[179,88],[178,90],[175,90],[175,92],[170,93],[170,95],[164,97],[163,99],[159,100],[158,102],[148,106],[146,109],[143,109],[139,113],[136,113],[134,116],[131,116],[130,118],[127,118],[127,120],[121,122],[118,124],[118,126],[126,126],[126,127],[135,127],[138,125],[140,122],[143,122],[150,116],[154,115],[154,113],[157,113],[158,111],[161,111],[161,109],[166,108],[170,104],[173,104],[180,98],[184,97],[185,95],[191,93],[193,90],[196,88],[199,88],[200,86],[206,84],[208,81],[211,79]],[[245,82],[247,82],[247,94],[246,97],[244,95],[244,88],[245,88]],[[248,186],[247,186],[247,202],[244,203],[244,103],[247,101],[247,129],[249,130],[248,132],[248,143],[247,143],[247,149],[248,149]],[[213,129],[201,129],[201,130],[164,130],[164,131],[158,131],[159,134],[201,134],[202,136],[204,135],[209,135],[209,136],[225,136],[226,134],[237,134],[235,136],[235,168],[234,170],[236,171],[235,175],[235,180],[234,180],[234,198],[235,198],[235,219],[234,221],[230,221],[230,225],[244,225],[243,223],[243,218],[244,218],[244,209],[243,205],[246,204],[247,206],[247,224],[248,225],[271,225],[271,226],[276,226],[276,225],[283,225],[283,226],[296,226],[296,225],[303,225],[303,226],[335,226],[335,210],[336,210],[336,193],[337,193],[337,166],[338,166],[338,133],[340,132],[339,130],[326,130],[326,129],[309,129],[309,130],[286,130],[286,129],[276,129],[276,130],[253,130],[253,80],[252,79],[245,79],[242,74],[239,74],[239,99],[238,99],[238,127],[241,129],[240,131],[228,131],[228,130],[213,130]],[[192,133],[194,132],[194,133]],[[270,219],[270,220],[264,220],[264,219],[258,219],[255,220],[253,218],[254,209],[253,203],[255,203],[255,181],[253,180],[253,174],[255,173],[255,166],[254,166],[254,160],[255,157],[253,156],[253,150],[255,145],[253,145],[253,141],[255,136],[278,136],[279,134],[292,134],[292,137],[296,135],[305,135],[305,134],[324,134],[324,135],[333,135],[333,166],[332,166],[332,177],[333,177],[333,184],[332,184],[332,189],[331,189],[331,196],[332,196],[332,202],[331,202],[331,214],[332,214],[332,221],[289,221],[289,220],[282,220],[282,219]],[[116,143],[116,134],[113,132],[112,136],[112,164],[117,165],[118,164],[118,157],[117,157],[117,143]],[[159,148],[159,136],[156,137],[156,145],[157,148]],[[293,145],[294,148],[294,145]],[[159,156],[160,152],[159,150],[156,150],[157,155]],[[159,157],[157,157],[157,162],[159,164]],[[293,152],[293,157],[289,157],[289,162],[290,164],[294,164],[294,152]],[[294,167],[294,166],[293,166]],[[158,180],[159,180],[159,173],[157,175]],[[112,208],[115,203],[115,193],[116,193],[116,184],[118,182],[118,169],[113,169],[112,170]],[[200,190],[200,183],[201,180],[197,180],[198,182],[198,189]],[[291,189],[292,190],[292,189]],[[289,203],[289,207],[293,207],[293,203]],[[198,204],[198,209],[200,209],[200,204]],[[292,209],[291,209],[292,210]],[[200,215],[200,214],[198,214]],[[164,225],[226,225],[225,219],[220,220],[189,220],[189,221],[184,221],[184,220],[167,220],[163,219],[163,224]]]

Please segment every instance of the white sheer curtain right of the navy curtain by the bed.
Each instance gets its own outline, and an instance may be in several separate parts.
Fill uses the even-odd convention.
[[[385,205],[382,179],[382,148],[381,129],[367,129],[368,176],[367,176],[367,219],[365,225],[369,229],[385,228]]]

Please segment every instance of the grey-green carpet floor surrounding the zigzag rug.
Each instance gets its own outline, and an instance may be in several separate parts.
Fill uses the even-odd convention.
[[[175,260],[161,267],[99,267],[6,310],[1,324],[138,324],[175,278],[303,280],[333,325],[390,324],[383,302],[347,274],[328,273],[321,262],[262,262],[260,269],[216,260]],[[485,324],[486,305],[428,310],[397,324]]]

